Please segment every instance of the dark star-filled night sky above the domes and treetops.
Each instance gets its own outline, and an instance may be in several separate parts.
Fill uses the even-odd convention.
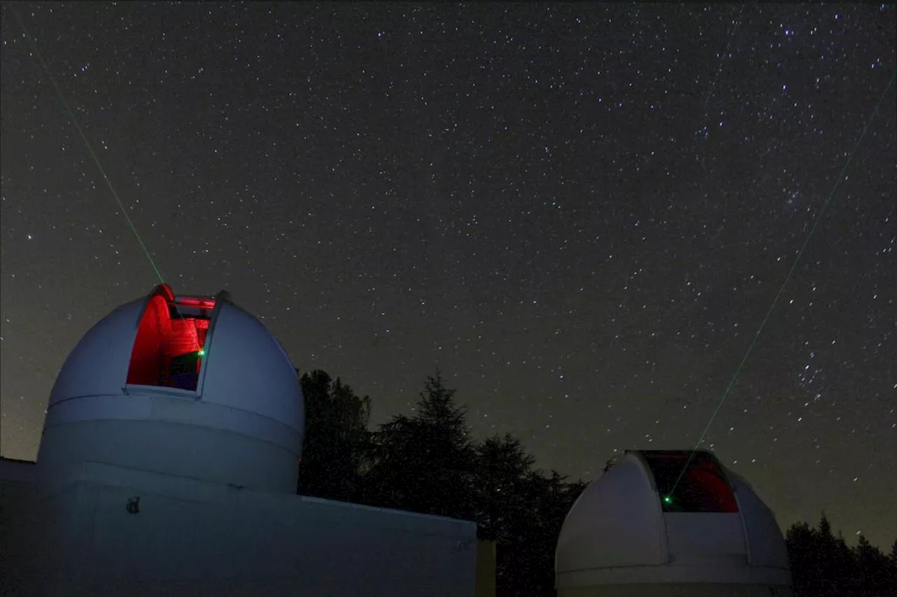
[[[372,423],[438,367],[574,479],[694,446],[831,197],[703,446],[783,525],[897,538],[894,4],[15,6],[176,292],[230,290]],[[2,18],[33,458],[68,351],[159,280]]]

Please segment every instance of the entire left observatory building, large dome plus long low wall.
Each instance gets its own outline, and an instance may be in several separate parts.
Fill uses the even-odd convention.
[[[0,462],[5,594],[475,594],[475,523],[296,495],[295,368],[256,317],[161,285],[84,335],[36,464]]]

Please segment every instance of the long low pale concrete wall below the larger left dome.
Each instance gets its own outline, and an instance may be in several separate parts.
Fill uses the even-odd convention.
[[[39,594],[475,594],[474,523],[99,463],[62,485],[46,497]]]

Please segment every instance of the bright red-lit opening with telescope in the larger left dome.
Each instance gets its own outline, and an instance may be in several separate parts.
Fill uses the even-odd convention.
[[[127,383],[196,391],[214,306],[213,299],[176,299],[159,286],[137,328]]]

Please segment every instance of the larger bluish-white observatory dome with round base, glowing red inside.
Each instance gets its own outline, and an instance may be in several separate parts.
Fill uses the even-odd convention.
[[[39,478],[83,462],[294,493],[302,391],[280,342],[227,292],[161,284],[118,307],[65,359],[50,394]]]

